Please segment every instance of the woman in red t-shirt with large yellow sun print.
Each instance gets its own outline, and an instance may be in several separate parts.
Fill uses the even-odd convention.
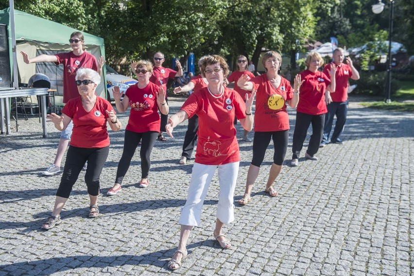
[[[237,85],[243,89],[257,89],[255,110],[255,136],[253,139],[253,158],[247,173],[246,189],[240,204],[251,201],[250,193],[259,175],[266,149],[273,139],[273,164],[270,168],[265,191],[270,196],[276,196],[273,183],[279,175],[288,148],[289,116],[286,103],[295,108],[299,101],[299,86],[303,83],[300,75],[294,79],[294,88],[290,82],[278,74],[282,65],[282,56],[275,51],[266,52],[261,60],[266,74],[249,81],[248,75],[242,75]]]

